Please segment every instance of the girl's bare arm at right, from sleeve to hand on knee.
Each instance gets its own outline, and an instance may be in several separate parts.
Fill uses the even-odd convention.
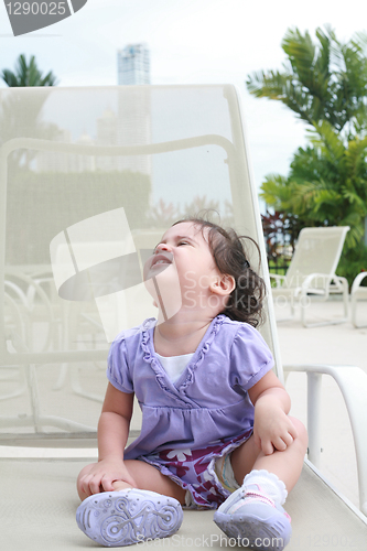
[[[268,371],[248,393],[255,406],[256,444],[266,455],[271,455],[274,450],[283,452],[298,436],[288,417],[291,409],[289,393],[273,371]]]

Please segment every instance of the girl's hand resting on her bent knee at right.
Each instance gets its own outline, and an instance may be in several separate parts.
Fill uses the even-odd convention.
[[[257,446],[266,455],[274,450],[284,452],[296,439],[298,432],[279,402],[265,397],[255,407],[253,437]]]

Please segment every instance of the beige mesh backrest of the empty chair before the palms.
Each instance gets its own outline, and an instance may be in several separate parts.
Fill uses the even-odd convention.
[[[325,287],[325,279],[335,276],[348,226],[303,228],[300,231],[295,251],[285,274],[288,288],[298,288],[304,279],[317,273],[319,284]],[[317,279],[315,284],[317,284]]]

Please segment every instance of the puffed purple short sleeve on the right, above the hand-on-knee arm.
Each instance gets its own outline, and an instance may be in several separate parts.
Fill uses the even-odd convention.
[[[260,333],[249,324],[241,324],[230,350],[230,386],[248,390],[273,365],[272,354]]]

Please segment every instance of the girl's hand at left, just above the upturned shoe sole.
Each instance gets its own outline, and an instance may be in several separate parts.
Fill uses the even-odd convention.
[[[80,479],[80,488],[85,494],[91,496],[100,491],[112,491],[112,483],[121,480],[133,488],[137,483],[130,476],[123,460],[120,457],[105,458],[96,463],[89,473]]]

